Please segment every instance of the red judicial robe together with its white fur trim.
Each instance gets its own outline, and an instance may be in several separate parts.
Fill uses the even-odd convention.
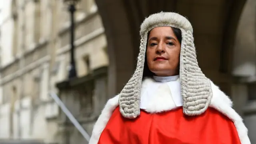
[[[144,80],[142,93],[152,84]],[[186,116],[170,96],[159,93],[150,98],[135,119],[122,116],[115,96],[106,103],[89,144],[250,144],[242,118],[218,86],[211,83],[212,100],[198,116]]]

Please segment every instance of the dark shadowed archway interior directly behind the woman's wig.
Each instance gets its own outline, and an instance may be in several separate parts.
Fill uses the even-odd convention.
[[[178,12],[194,28],[198,63],[203,72],[230,94],[232,48],[246,0],[96,0],[108,41],[109,96],[132,76],[139,50],[139,27],[160,11]]]

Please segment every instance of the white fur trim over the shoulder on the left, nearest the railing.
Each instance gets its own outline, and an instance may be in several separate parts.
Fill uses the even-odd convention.
[[[108,100],[108,102],[106,103],[98,120],[96,121],[96,123],[94,125],[89,144],[97,144],[98,143],[100,134],[104,130],[105,126],[107,125],[108,120],[110,119],[115,108],[118,106],[118,98],[119,98],[119,96],[117,95],[114,98],[111,98],[110,100]]]

